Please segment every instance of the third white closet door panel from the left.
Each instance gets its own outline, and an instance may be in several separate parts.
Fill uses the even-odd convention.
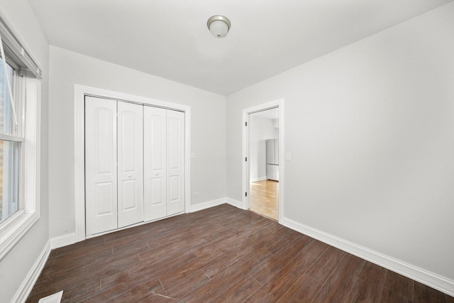
[[[144,106],[143,122],[144,216],[150,221],[166,216],[166,110]]]

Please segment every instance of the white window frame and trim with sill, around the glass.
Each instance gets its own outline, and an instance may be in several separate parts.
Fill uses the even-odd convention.
[[[20,190],[21,208],[0,224],[0,260],[18,243],[33,224],[40,218],[40,96],[41,70],[35,64],[30,53],[21,45],[21,38],[13,35],[11,26],[7,27],[0,19],[0,33],[4,45],[13,52],[21,65],[29,70],[21,70],[21,92],[18,100],[23,102],[18,106],[21,111],[21,121],[24,121],[24,140],[21,153]],[[6,54],[8,56],[8,54]],[[17,62],[19,63],[19,62]],[[19,72],[19,71],[17,71]],[[18,102],[18,101],[16,101]],[[23,110],[23,106],[26,110]]]

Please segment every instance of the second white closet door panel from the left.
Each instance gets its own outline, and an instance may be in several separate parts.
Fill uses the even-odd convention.
[[[118,101],[118,228],[143,221],[143,106]]]

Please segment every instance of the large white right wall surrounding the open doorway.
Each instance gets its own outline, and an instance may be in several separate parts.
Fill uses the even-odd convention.
[[[454,280],[454,3],[227,97],[227,195],[242,110],[284,98],[284,217]]]

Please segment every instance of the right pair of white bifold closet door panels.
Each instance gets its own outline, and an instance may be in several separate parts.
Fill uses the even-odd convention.
[[[145,221],[184,211],[184,113],[145,106]]]

